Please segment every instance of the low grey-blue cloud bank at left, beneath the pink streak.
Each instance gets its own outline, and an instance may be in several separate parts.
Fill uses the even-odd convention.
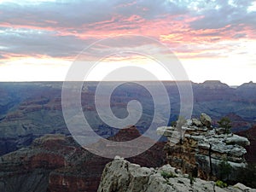
[[[95,40],[95,39],[94,39]],[[91,39],[81,40],[73,36],[57,36],[49,32],[38,31],[9,31],[0,37],[3,54],[21,55],[49,55],[53,57],[67,57],[78,55],[88,46]]]

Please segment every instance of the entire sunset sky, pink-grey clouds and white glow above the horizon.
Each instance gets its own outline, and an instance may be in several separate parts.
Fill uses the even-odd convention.
[[[65,80],[86,47],[127,34],[166,45],[193,82],[256,82],[255,0],[0,0],[0,81]],[[169,79],[148,58],[112,55],[90,80],[131,62]]]

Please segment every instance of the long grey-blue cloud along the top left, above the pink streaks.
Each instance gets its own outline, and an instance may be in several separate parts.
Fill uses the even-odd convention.
[[[115,15],[130,17],[141,15],[153,19],[160,15],[177,15],[184,8],[168,1],[69,1],[67,3],[41,3],[38,5],[20,5],[17,3],[0,4],[2,22],[10,25],[32,25],[75,28],[112,20]],[[131,4],[129,4],[131,3]],[[115,20],[113,20],[114,22]]]

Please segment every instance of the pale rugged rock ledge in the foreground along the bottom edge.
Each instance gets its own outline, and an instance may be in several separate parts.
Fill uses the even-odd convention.
[[[131,164],[116,157],[105,167],[97,192],[155,192],[155,191],[256,191],[241,183],[236,187],[219,188],[214,182],[189,177],[176,168],[166,165],[158,169]]]

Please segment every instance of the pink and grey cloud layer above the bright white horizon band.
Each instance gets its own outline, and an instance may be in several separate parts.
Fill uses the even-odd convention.
[[[42,56],[72,60],[96,40],[120,34],[155,38],[183,59],[212,60],[237,53],[251,58],[256,51],[246,47],[256,39],[255,4],[252,0],[2,1],[0,62]]]

